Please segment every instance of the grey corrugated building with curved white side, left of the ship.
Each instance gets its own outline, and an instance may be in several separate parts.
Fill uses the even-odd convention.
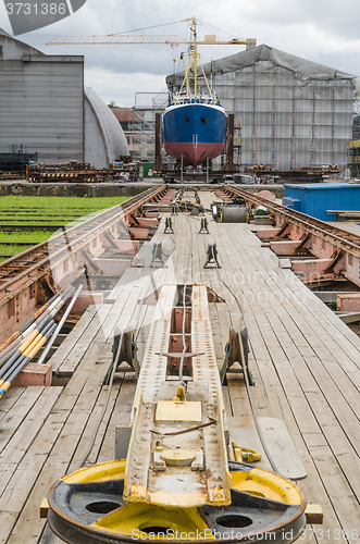
[[[0,29],[0,153],[108,168],[128,156],[122,127],[84,88],[84,57],[48,55]]]

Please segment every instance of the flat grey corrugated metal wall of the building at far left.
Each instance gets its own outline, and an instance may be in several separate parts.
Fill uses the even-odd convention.
[[[0,62],[0,152],[24,146],[39,161],[84,161],[83,57]]]

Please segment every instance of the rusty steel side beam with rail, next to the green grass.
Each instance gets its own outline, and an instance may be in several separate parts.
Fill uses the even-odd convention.
[[[45,302],[47,284],[55,289],[76,275],[86,263],[84,249],[90,250],[96,259],[109,246],[109,235],[116,239],[123,232],[129,238],[129,218],[139,213],[144,203],[161,199],[167,191],[165,185],[148,189],[3,261],[0,264],[0,330],[11,329],[39,302]]]

